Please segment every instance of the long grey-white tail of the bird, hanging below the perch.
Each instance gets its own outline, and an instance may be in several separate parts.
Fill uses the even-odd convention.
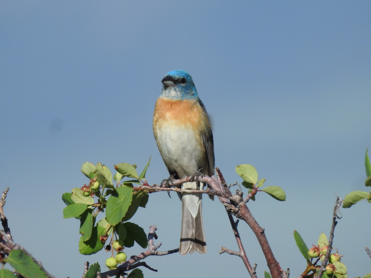
[[[203,184],[200,183],[202,190]],[[196,189],[196,182],[187,182],[182,189]],[[181,255],[198,251],[206,253],[206,241],[202,222],[202,194],[183,193],[182,195],[182,230],[179,252]]]

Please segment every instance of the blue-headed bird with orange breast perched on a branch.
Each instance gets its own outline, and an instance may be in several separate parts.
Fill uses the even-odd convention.
[[[212,176],[215,158],[211,121],[192,77],[184,70],[173,70],[161,82],[161,94],[153,113],[153,132],[170,176],[181,179],[198,172]],[[204,186],[207,185],[199,183],[200,190]],[[198,189],[198,186],[196,182],[187,182],[181,188]],[[181,255],[194,251],[204,254],[206,240],[202,193],[182,193],[180,198],[182,225],[179,252]]]

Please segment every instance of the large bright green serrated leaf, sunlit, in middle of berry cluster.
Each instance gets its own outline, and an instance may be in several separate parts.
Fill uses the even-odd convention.
[[[132,191],[131,187],[121,186],[111,193],[106,205],[106,218],[109,224],[116,225],[125,216],[133,197]]]

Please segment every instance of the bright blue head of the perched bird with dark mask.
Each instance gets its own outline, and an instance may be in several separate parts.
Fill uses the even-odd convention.
[[[161,80],[163,86],[162,97],[171,99],[198,99],[196,87],[192,77],[184,70],[168,72]]]

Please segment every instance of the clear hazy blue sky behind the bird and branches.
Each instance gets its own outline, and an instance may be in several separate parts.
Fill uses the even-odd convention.
[[[87,183],[80,167],[120,162],[168,177],[152,134],[161,79],[189,72],[213,118],[216,166],[228,183],[236,165],[256,167],[286,202],[263,193],[249,208],[283,269],[306,267],[293,239],[329,234],[335,195],[367,191],[371,144],[370,1],[1,1],[1,167],[14,240],[57,277],[81,277],[79,223],[62,219],[61,195]],[[1,191],[3,190],[1,189]],[[180,236],[175,194],[150,195],[132,222],[158,227],[161,250]],[[371,271],[371,206],[341,209],[334,246],[349,277]],[[146,259],[146,277],[246,275],[218,201],[204,198],[206,255]],[[241,238],[257,273],[267,270],[251,231]],[[127,249],[128,256],[141,252]],[[185,267],[186,266],[186,267]],[[197,274],[198,273],[198,274]]]

